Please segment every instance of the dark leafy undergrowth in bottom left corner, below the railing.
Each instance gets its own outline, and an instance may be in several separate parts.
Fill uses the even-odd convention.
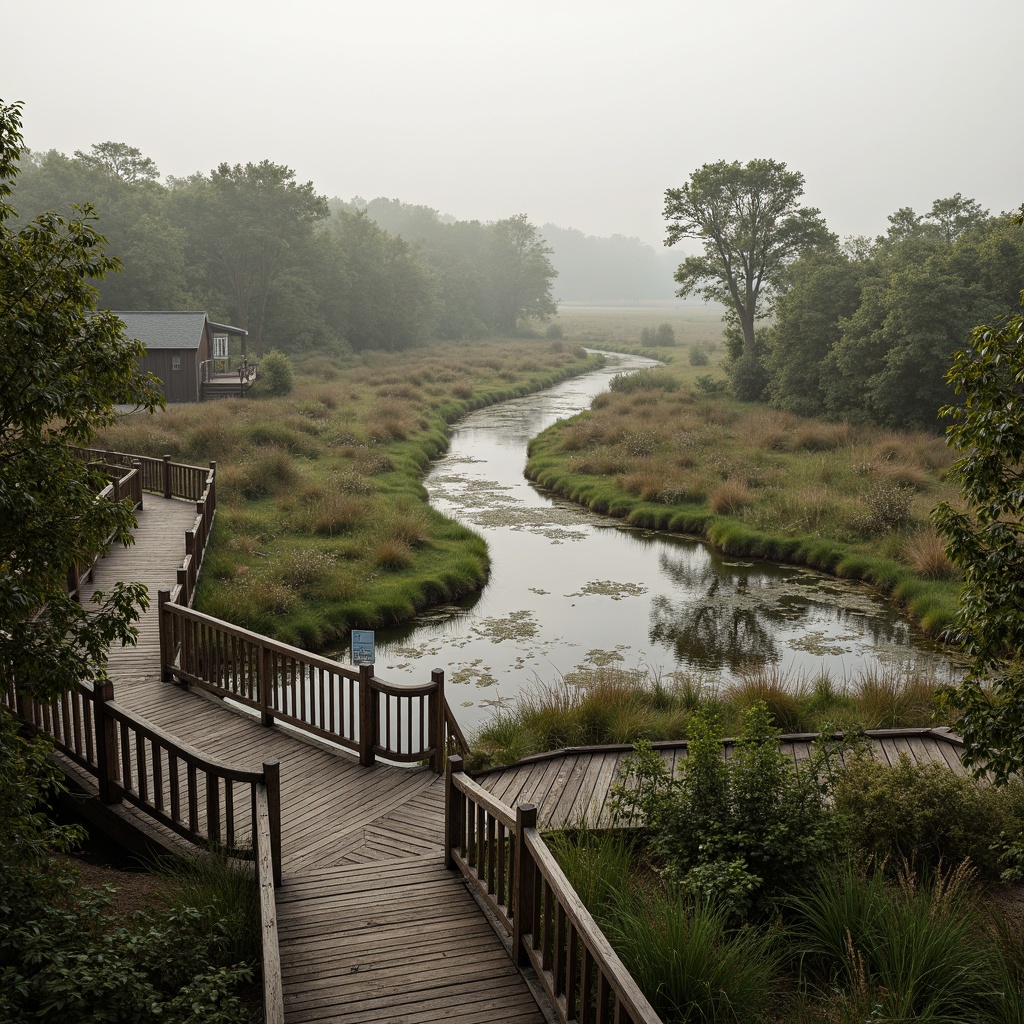
[[[54,856],[82,834],[48,818],[58,773],[47,749],[0,709],[0,1020],[247,1024],[240,986],[253,962],[220,912],[185,894],[112,922],[111,891],[81,886]],[[258,944],[258,928],[246,930]]]

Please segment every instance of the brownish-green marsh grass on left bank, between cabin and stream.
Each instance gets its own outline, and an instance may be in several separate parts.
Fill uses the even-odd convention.
[[[482,586],[483,542],[432,512],[420,483],[447,424],[599,361],[544,339],[296,357],[287,396],[129,414],[96,446],[216,461],[198,607],[322,649]]]

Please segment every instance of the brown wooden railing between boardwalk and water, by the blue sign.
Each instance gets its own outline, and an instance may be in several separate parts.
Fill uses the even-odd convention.
[[[160,651],[165,682],[177,681],[337,743],[372,765],[429,761],[443,770],[465,738],[444,699],[444,673],[421,686],[378,679],[359,669],[310,654],[183,604],[179,592],[159,594]]]

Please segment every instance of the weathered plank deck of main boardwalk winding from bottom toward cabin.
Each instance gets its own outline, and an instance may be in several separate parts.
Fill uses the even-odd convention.
[[[147,494],[134,546],[96,564],[83,600],[144,583],[136,647],[111,651],[115,697],[191,746],[240,767],[281,762],[284,884],[278,921],[289,1024],[484,1024],[546,1020],[462,876],[443,864],[443,780],[362,768],[219,700],[160,681],[156,595],[181,564],[196,506]]]

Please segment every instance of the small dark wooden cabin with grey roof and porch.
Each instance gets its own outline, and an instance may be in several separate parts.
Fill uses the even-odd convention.
[[[205,312],[114,312],[125,334],[145,345],[139,369],[160,380],[169,402],[245,395],[256,380],[240,327],[215,324]]]

